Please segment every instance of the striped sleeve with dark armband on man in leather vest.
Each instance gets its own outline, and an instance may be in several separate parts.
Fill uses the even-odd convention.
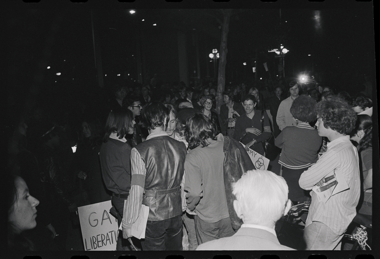
[[[131,168],[131,190],[129,191],[123,212],[122,224],[124,228],[131,228],[132,223],[134,223],[139,216],[140,207],[143,202],[146,167],[136,148],[132,148],[131,151]]]

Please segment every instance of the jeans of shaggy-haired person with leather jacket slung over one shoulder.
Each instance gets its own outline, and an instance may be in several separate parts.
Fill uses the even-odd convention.
[[[229,217],[223,218],[214,223],[209,223],[203,221],[199,218],[199,216],[195,215],[194,221],[195,232],[197,234],[199,244],[235,234]]]

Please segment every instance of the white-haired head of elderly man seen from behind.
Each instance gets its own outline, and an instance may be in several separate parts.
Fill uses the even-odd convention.
[[[236,214],[245,224],[274,228],[276,221],[290,209],[288,185],[271,171],[249,170],[232,188]]]

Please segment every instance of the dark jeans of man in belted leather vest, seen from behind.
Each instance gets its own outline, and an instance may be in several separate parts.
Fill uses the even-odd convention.
[[[182,215],[164,220],[148,220],[143,250],[182,250]]]

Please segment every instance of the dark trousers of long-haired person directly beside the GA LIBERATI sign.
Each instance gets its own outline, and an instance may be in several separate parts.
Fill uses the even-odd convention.
[[[118,212],[118,226],[120,226],[121,221],[123,220],[123,213],[124,213],[124,200],[126,198],[118,198],[115,196],[112,196],[111,201],[112,205],[116,208],[116,211]],[[141,244],[140,240],[136,237],[131,237],[133,244],[138,250],[141,250]],[[119,230],[118,240],[116,242],[116,250],[117,251],[131,251],[133,250],[131,244],[129,243],[128,239],[125,239],[123,237],[123,231]]]

